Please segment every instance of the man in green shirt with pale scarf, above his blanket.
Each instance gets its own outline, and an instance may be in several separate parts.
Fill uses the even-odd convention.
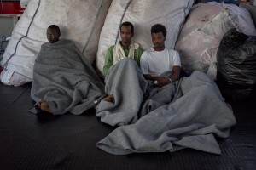
[[[143,49],[139,44],[131,42],[131,38],[134,36],[134,26],[131,22],[124,22],[120,26],[121,41],[116,45],[108,48],[105,65],[103,67],[103,75],[106,76],[108,69],[115,65],[119,60],[130,57],[140,65],[140,57],[143,54]]]

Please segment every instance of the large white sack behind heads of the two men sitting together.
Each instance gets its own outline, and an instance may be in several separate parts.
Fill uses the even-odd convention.
[[[143,49],[153,46],[150,29],[157,23],[166,26],[166,47],[174,48],[193,3],[192,0],[113,0],[102,27],[96,57],[97,70],[102,73],[105,54],[111,45],[119,42],[119,26],[125,21],[130,21],[134,25],[133,41],[140,43]]]

